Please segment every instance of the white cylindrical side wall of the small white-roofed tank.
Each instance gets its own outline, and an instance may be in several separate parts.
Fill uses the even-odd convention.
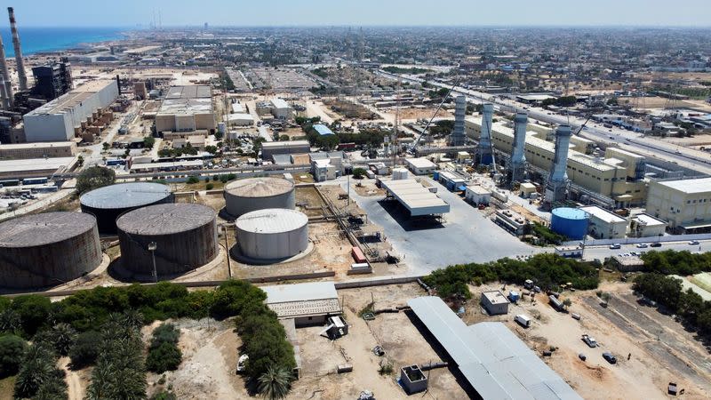
[[[308,224],[271,234],[248,232],[237,227],[237,244],[240,251],[252,259],[287,259],[308,248]]]

